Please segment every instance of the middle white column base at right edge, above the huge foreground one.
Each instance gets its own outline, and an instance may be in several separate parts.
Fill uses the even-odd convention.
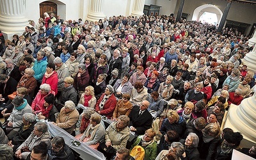
[[[255,72],[256,70],[255,61],[256,61],[256,52],[252,51],[247,53],[244,56],[244,58],[242,59],[242,64],[247,65],[248,70]]]

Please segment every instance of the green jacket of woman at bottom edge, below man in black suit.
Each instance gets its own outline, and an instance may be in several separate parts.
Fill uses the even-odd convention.
[[[140,144],[140,141],[141,141],[142,137],[143,136],[138,136],[136,138],[136,140],[133,143],[131,149],[133,147],[135,147],[136,145]],[[147,147],[144,148],[144,150],[145,150],[145,158],[144,159],[147,159],[147,160],[155,160],[156,159],[156,156],[157,156],[157,143],[156,143],[156,141],[154,141],[153,143],[147,145]]]

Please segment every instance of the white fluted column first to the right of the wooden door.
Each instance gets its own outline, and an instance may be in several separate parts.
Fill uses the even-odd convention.
[[[87,20],[95,21],[99,19],[104,19],[106,15],[103,13],[104,0],[90,0],[89,12],[87,15]]]

